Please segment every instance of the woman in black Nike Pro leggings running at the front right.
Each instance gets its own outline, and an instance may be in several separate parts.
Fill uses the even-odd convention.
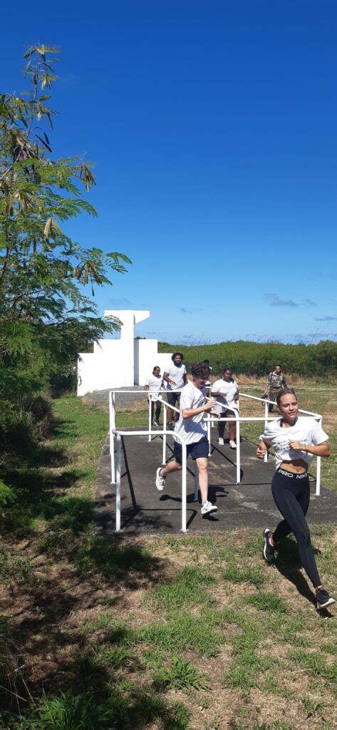
[[[335,601],[322,586],[305,515],[310,500],[308,468],[313,456],[330,456],[328,435],[313,418],[298,418],[298,401],[293,388],[283,388],[276,403],[282,418],[268,422],[260,436],[256,455],[263,459],[268,449],[274,448],[276,474],[271,491],[284,519],[274,532],[268,528],[264,531],[263,556],[272,563],[279,540],[293,532],[301,563],[314,585],[317,610],[322,610]]]

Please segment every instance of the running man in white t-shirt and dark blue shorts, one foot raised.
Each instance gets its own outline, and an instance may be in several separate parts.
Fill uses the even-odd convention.
[[[192,381],[182,388],[180,397],[180,415],[174,428],[174,433],[179,434],[186,444],[187,456],[190,454],[193,461],[196,461],[199,475],[199,488],[201,492],[201,517],[217,512],[217,507],[208,500],[208,457],[209,441],[207,439],[207,427],[203,418],[204,411],[214,408],[215,401],[206,399],[205,383],[209,377],[209,366],[204,363],[195,363],[191,369]],[[174,461],[170,461],[162,469],[157,469],[155,485],[158,491],[163,491],[165,480],[168,474],[177,472],[182,468],[182,445],[174,443]]]

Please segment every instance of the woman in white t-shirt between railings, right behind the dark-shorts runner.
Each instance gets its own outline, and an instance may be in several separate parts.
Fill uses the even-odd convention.
[[[211,396],[217,399],[217,404],[211,415],[220,415],[223,418],[231,419],[236,417],[236,413],[239,412],[239,387],[236,380],[233,380],[231,368],[226,367],[222,373],[222,378],[213,383]],[[218,443],[223,446],[225,420],[219,421],[217,431],[219,434]],[[236,449],[235,437],[236,423],[235,420],[231,420],[229,423],[229,445],[231,449]]]

